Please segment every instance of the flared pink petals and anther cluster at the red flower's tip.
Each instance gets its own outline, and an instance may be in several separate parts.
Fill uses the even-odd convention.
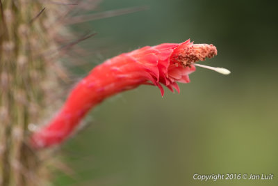
[[[158,60],[159,81],[154,83],[161,90],[163,96],[164,91],[159,83],[164,84],[170,91],[174,89],[179,93],[179,86],[176,82],[189,83],[188,75],[195,71],[197,61],[204,61],[206,58],[211,59],[217,55],[217,49],[213,45],[193,44],[190,40],[179,44],[164,43],[156,45],[152,49],[157,49],[157,56],[168,52],[167,58]],[[169,55],[170,52],[170,55]]]

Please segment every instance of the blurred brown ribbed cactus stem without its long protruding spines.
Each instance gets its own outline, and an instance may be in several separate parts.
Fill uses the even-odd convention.
[[[26,139],[28,126],[42,122],[58,87],[58,63],[54,68],[46,55],[56,46],[57,27],[47,26],[57,7],[48,4],[44,10],[40,1],[27,0],[0,3],[0,185],[42,185],[47,161],[40,161]]]

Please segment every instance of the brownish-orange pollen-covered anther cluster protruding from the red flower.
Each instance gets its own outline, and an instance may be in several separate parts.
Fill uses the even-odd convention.
[[[213,45],[193,44],[181,45],[173,52],[172,59],[184,66],[190,66],[197,61],[205,61],[217,55],[217,49]]]

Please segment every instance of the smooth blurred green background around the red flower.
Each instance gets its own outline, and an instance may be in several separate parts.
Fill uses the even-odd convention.
[[[218,47],[181,93],[140,86],[91,111],[87,126],[63,146],[71,173],[55,185],[278,185],[277,1],[104,0],[95,12],[134,6],[148,10],[76,24],[96,31],[82,43],[83,77],[97,63],[161,42]],[[273,173],[273,180],[201,182],[193,174]]]

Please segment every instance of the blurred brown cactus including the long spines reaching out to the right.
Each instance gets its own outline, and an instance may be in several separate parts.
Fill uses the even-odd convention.
[[[49,166],[57,166],[53,150],[34,150],[29,136],[63,95],[67,73],[59,59],[95,35],[74,39],[65,25],[145,10],[86,13],[100,1],[0,0],[0,185],[46,185]]]

